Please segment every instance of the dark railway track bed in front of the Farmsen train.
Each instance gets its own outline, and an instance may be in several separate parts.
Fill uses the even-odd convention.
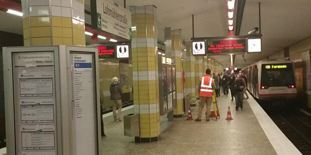
[[[302,154],[311,155],[311,117],[293,110],[269,112],[268,115]]]

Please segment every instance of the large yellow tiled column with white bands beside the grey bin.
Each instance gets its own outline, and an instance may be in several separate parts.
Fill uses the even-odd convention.
[[[134,111],[139,113],[137,142],[156,141],[161,133],[157,12],[154,5],[130,6]]]

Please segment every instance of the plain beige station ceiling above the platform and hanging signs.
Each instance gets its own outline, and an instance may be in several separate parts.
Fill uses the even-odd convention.
[[[114,0],[123,6],[123,0]],[[237,0],[236,0],[237,1]],[[245,35],[258,22],[258,2],[261,2],[263,52],[246,54],[246,61],[237,55],[235,66],[244,67],[311,36],[311,0],[246,0],[240,35]],[[126,0],[126,6],[157,6],[159,32],[165,27],[181,28],[182,37],[192,37],[192,17],[195,16],[195,37],[226,36],[226,0]],[[22,18],[0,11],[0,30],[22,34]],[[159,35],[159,39],[163,39]],[[229,66],[229,56],[214,56],[223,66]]]

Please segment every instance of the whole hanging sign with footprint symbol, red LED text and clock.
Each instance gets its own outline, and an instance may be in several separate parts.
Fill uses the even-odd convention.
[[[261,35],[200,37],[191,39],[193,55],[203,56],[261,52]]]

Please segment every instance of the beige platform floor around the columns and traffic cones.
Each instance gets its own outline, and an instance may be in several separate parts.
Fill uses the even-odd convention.
[[[230,99],[230,92],[228,96],[217,97],[220,119],[197,122],[185,120],[187,117],[174,118],[174,122],[162,132],[160,140],[151,143],[135,143],[133,137],[123,135],[123,122],[112,122],[112,116],[105,117],[107,136],[102,137],[102,153],[277,154],[249,106],[248,100],[253,98],[244,99],[243,110],[238,111]],[[228,106],[233,120],[225,120]],[[193,117],[197,116],[197,111],[198,106],[193,106]],[[128,109],[122,114],[131,112],[132,109]]]

